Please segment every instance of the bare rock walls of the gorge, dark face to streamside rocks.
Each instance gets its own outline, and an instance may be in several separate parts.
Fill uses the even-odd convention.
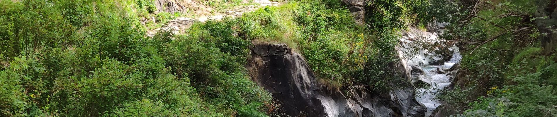
[[[408,39],[432,34],[416,29],[404,33],[398,47],[400,58],[408,54],[404,50],[412,49]],[[434,93],[448,86],[456,73],[449,68],[455,64],[450,62],[458,62],[458,52],[453,51],[455,57],[448,61],[441,59],[440,54],[421,52],[412,59],[400,59],[389,65],[412,86],[389,92],[361,88],[349,96],[317,83],[304,57],[286,44],[255,45],[247,68],[256,74],[255,82],[284,105],[281,111],[291,116],[429,116],[441,104],[433,99]],[[428,60],[443,64],[428,65]],[[421,82],[427,86],[419,88]]]

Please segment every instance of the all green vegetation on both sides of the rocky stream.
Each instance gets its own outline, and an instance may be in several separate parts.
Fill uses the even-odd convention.
[[[253,44],[287,43],[330,90],[388,90],[406,83],[388,67],[398,32],[432,22],[449,23],[443,44],[463,55],[440,108],[557,116],[557,21],[540,11],[551,1],[367,1],[358,26],[339,0],[300,0],[154,37],[145,31],[192,15],[150,0],[0,4],[0,116],[269,116],[277,103],[244,67]]]

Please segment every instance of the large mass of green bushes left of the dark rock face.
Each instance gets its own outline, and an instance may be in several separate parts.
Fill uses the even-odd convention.
[[[146,38],[149,1],[0,2],[0,116],[266,116],[232,21]]]

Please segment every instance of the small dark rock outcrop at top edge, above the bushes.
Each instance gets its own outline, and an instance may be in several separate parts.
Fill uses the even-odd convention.
[[[364,0],[343,0],[343,2],[348,6],[348,10],[354,16],[356,24],[363,26],[365,22],[364,17]]]

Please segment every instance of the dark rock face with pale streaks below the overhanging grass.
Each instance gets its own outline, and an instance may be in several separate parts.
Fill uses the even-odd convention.
[[[424,116],[423,106],[413,97],[413,88],[390,92],[360,89],[348,96],[343,91],[319,87],[304,58],[286,44],[256,45],[251,60],[255,64],[247,67],[256,69],[252,70],[256,71],[253,80],[279,101],[281,113],[290,116]],[[391,66],[405,67],[396,63]]]

